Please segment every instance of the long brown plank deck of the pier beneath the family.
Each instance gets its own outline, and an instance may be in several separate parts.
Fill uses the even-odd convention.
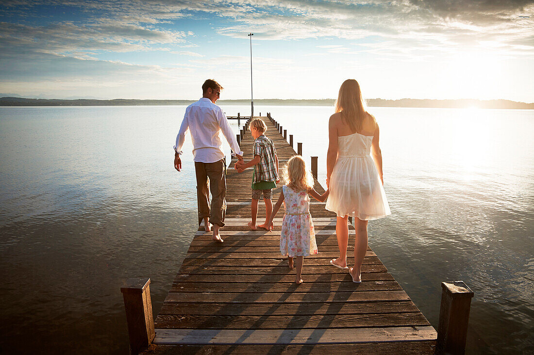
[[[281,171],[295,150],[280,128],[261,118],[269,127],[266,135],[275,144]],[[247,160],[253,141],[250,132],[243,134]],[[283,211],[272,232],[247,227],[252,174],[252,168],[241,174],[228,169],[224,243],[199,228],[155,319],[155,349],[147,353],[434,353],[435,329],[371,249],[361,284],[329,264],[339,256],[335,214],[315,200],[310,212],[319,254],[304,258],[304,283],[296,285],[295,270],[289,270],[279,250]],[[273,204],[280,188],[274,190]],[[317,180],[315,188],[324,191]],[[258,223],[263,223],[262,200],[259,205]],[[353,251],[351,228],[349,264]]]

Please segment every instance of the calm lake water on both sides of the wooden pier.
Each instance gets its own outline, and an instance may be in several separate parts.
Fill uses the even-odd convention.
[[[189,138],[173,168],[184,110],[0,108],[0,353],[128,353],[128,277],[152,279],[158,314],[197,229]],[[333,108],[255,111],[319,157],[325,185]],[[374,252],[434,327],[441,281],[473,289],[467,353],[532,353],[534,111],[370,111],[392,211],[369,223]]]

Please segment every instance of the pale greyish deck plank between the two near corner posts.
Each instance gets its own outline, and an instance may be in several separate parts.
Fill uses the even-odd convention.
[[[431,326],[356,329],[156,329],[155,344],[350,344],[435,340]]]

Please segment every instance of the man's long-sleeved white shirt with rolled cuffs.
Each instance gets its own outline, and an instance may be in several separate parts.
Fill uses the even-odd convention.
[[[223,132],[235,154],[243,155],[223,110],[210,99],[201,98],[185,109],[184,120],[176,136],[176,146],[174,146],[178,154],[183,154],[182,146],[187,131],[191,132],[195,162],[215,163],[224,158],[223,142],[219,132]]]

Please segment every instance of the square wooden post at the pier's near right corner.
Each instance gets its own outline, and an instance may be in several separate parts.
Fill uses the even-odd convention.
[[[464,354],[473,291],[464,281],[441,283],[436,354]]]

